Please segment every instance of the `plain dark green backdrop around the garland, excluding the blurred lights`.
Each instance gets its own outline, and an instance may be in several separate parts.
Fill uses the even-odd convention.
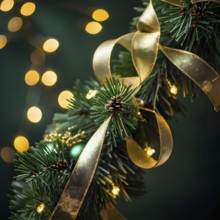
[[[70,89],[77,78],[93,77],[91,63],[96,47],[129,31],[129,22],[136,15],[133,7],[141,5],[141,1],[44,0],[36,5],[37,11],[31,18],[33,26],[42,35],[60,42],[59,50],[47,56],[46,62],[46,67],[57,72],[58,83],[54,88],[25,85],[31,48],[24,39],[0,50],[1,148],[12,146],[20,130],[28,135],[31,144],[42,139],[53,113],[63,112],[56,103],[59,91]],[[86,13],[90,7],[104,8],[110,14],[110,19],[103,23],[103,31],[95,36],[85,33],[80,25],[91,20]],[[7,19],[0,15],[3,33]],[[39,124],[30,124],[25,117],[27,94],[33,103],[40,97],[38,104],[44,116]],[[170,160],[162,167],[146,171],[147,194],[120,206],[129,220],[220,219],[220,113],[213,110],[203,94],[194,103],[183,102],[187,108],[185,117],[178,115],[178,120],[169,121],[174,137]],[[1,220],[9,215],[7,193],[13,175],[13,165],[0,160]]]

